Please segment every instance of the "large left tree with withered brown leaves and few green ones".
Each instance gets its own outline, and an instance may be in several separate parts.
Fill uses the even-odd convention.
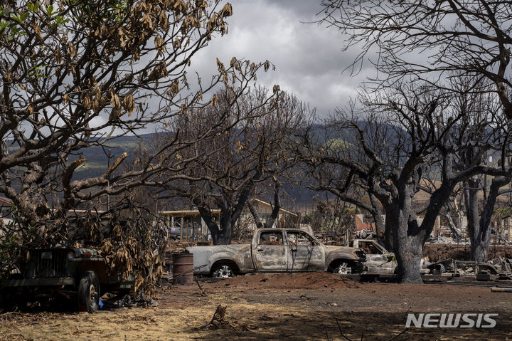
[[[232,14],[230,4],[218,1],[18,1],[1,7],[0,193],[26,224],[60,219],[82,201],[151,184],[161,158],[114,172],[127,157],[122,154],[99,177],[78,179],[75,170],[87,164],[81,150],[188,115],[210,103],[209,90],[218,84],[242,89],[264,65],[233,58],[207,83],[189,79],[193,57],[227,33]],[[174,155],[172,142],[161,148]],[[50,210],[55,192],[60,200]]]

